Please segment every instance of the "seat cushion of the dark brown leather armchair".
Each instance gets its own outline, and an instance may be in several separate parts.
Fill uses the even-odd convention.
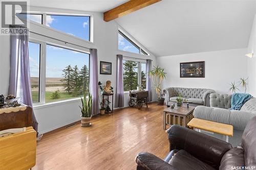
[[[179,170],[214,170],[215,168],[190,155],[185,150],[177,152],[168,162]]]

